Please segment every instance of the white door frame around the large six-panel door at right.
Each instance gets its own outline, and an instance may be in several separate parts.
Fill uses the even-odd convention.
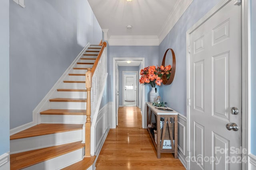
[[[205,21],[207,21],[213,14],[218,12],[223,6],[228,4],[230,1],[234,1],[240,3],[241,5],[241,26],[242,26],[242,148],[246,149],[247,152],[242,153],[242,160],[248,161],[248,147],[250,149],[250,121],[248,119],[248,115],[250,114],[250,0],[222,0],[220,1],[212,10],[210,10],[204,17],[202,17],[197,23],[195,23],[188,31],[186,32],[186,80],[187,80],[187,139],[190,139],[190,107],[189,107],[189,99],[190,99],[190,76],[189,76],[189,62],[190,62],[190,34],[197,29],[200,25],[202,25]],[[232,3],[232,2],[230,2]],[[190,140],[187,140],[187,169],[190,170]],[[248,168],[247,162],[242,162],[242,170],[246,170]]]

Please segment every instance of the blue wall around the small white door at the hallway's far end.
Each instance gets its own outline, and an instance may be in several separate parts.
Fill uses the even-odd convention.
[[[119,106],[123,106],[123,92],[122,92],[122,87],[123,87],[123,71],[138,71],[138,74],[140,74],[139,72],[139,67],[138,66],[119,66],[118,67],[119,70]],[[128,73],[126,73],[128,74]],[[138,75],[139,77],[139,75]],[[138,84],[137,84],[137,89],[138,88]]]

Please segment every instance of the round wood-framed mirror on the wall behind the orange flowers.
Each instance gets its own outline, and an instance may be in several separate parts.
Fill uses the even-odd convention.
[[[164,74],[162,76],[163,84],[165,84],[165,85],[171,84],[174,79],[174,75],[175,75],[176,59],[175,59],[174,51],[172,49],[166,50],[166,52],[164,53],[163,61],[162,61],[162,66],[164,66],[164,67],[165,67],[165,65],[169,65],[169,64],[172,66],[170,78],[167,79],[166,74]]]

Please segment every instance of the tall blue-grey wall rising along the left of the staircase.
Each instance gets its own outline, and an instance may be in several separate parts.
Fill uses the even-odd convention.
[[[87,0],[10,0],[10,128],[32,111],[87,43],[102,30]],[[6,15],[7,16],[7,15]]]

